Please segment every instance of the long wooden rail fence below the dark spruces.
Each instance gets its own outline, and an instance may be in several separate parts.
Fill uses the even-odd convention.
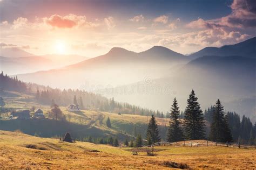
[[[240,143],[219,143],[214,141],[206,141],[205,143],[195,143],[195,142],[174,142],[169,143],[166,141],[159,141],[152,145],[146,145],[144,147],[152,147],[152,146],[190,146],[190,147],[199,147],[199,146],[223,146],[223,147],[238,147],[238,148],[256,148],[253,145],[240,145]]]

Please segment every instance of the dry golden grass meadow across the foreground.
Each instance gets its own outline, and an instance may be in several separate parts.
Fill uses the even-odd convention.
[[[200,142],[200,141],[199,141]],[[27,148],[32,145],[33,148]],[[27,147],[26,147],[27,146]],[[145,152],[132,155],[131,148],[66,143],[20,132],[0,131],[0,167],[63,169],[165,169],[164,161],[183,163],[190,168],[256,168],[256,150],[230,147],[157,146],[153,157]],[[151,148],[148,148],[151,150]],[[97,150],[99,152],[91,152]]]

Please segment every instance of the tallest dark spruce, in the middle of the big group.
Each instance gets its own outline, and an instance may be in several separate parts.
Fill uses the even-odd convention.
[[[198,98],[194,94],[194,90],[192,90],[187,99],[184,118],[185,135],[188,140],[205,138],[204,115],[197,100]]]

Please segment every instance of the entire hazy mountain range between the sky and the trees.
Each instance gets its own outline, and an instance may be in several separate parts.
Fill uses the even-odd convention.
[[[184,110],[194,89],[203,108],[220,98],[225,109],[256,121],[255,55],[256,37],[234,45],[206,47],[188,56],[161,46],[140,53],[114,47],[95,58],[18,77],[53,88],[85,89],[163,111],[169,110],[174,97]]]

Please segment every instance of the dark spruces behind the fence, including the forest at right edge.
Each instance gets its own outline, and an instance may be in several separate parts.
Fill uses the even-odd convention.
[[[194,90],[187,99],[187,106],[184,111],[184,119],[181,122],[180,110],[176,98],[170,110],[169,129],[167,131],[167,141],[176,142],[182,140],[208,139],[216,142],[239,141],[241,144],[255,144],[256,123],[252,125],[250,118],[240,118],[233,112],[225,112],[224,107],[218,99],[211,109],[205,114],[200,109],[198,98]],[[205,119],[211,123],[211,130],[208,137],[205,134]],[[147,132],[147,145],[151,145],[161,140],[156,119],[152,115]]]

